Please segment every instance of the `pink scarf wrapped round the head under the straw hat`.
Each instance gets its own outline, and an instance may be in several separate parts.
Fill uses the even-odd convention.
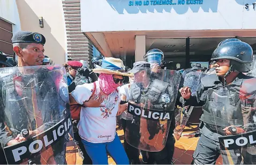
[[[98,81],[100,82],[101,90],[107,95],[114,92],[119,85],[122,85],[114,82],[112,74],[101,73]]]

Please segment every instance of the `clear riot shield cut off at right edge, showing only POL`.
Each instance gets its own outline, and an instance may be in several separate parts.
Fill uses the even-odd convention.
[[[223,164],[256,163],[255,84],[252,78],[217,88],[207,101],[206,127],[219,133]]]

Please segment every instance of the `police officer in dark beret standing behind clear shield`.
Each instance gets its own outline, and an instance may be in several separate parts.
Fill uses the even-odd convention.
[[[7,75],[0,78],[0,95],[2,96],[0,98],[0,150],[2,151],[2,147],[14,147],[21,142],[26,144],[28,139],[39,136],[40,133],[53,127],[58,119],[64,116],[60,112],[67,108],[66,103],[68,103],[68,97],[67,100],[63,100],[64,97],[62,97],[65,92],[68,93],[67,88],[66,91],[65,87],[64,90],[57,89],[62,86],[57,85],[56,76],[59,73],[55,71],[56,69],[24,68],[43,64],[46,38],[39,33],[21,31],[13,35],[12,43],[13,51],[18,57],[18,67],[1,70]],[[29,73],[24,70],[28,70]],[[65,138],[62,138],[55,145],[48,146],[48,149],[51,148],[48,150],[51,158],[46,158],[41,153],[29,155],[29,158],[20,161],[28,161],[27,163],[31,164],[64,164],[66,163],[65,142]],[[7,161],[10,163],[12,159]],[[0,164],[5,163],[3,155]]]

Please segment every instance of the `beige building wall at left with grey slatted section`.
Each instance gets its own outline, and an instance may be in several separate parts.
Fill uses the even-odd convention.
[[[50,57],[55,64],[64,64],[67,60],[89,61],[93,57],[93,44],[81,33],[80,1],[0,0],[0,7],[0,21],[7,20],[6,25],[0,22],[0,30],[7,28],[3,36],[8,39],[0,38],[0,42],[4,41],[0,43],[3,47],[0,47],[0,50],[2,48],[3,52],[12,54],[10,27],[19,25],[19,28],[12,29],[38,32],[46,37],[44,54]],[[16,13],[10,17],[11,14],[8,12],[13,13],[13,10]],[[2,25],[7,27],[1,27]],[[2,31],[0,31],[1,37]],[[8,51],[5,51],[6,44]]]

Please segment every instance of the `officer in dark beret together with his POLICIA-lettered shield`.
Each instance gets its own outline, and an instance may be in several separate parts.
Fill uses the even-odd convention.
[[[56,81],[62,73],[41,66],[42,34],[21,31],[12,43],[18,67],[2,68],[8,75],[0,78],[0,164],[65,164],[64,136],[72,124],[67,86]]]

